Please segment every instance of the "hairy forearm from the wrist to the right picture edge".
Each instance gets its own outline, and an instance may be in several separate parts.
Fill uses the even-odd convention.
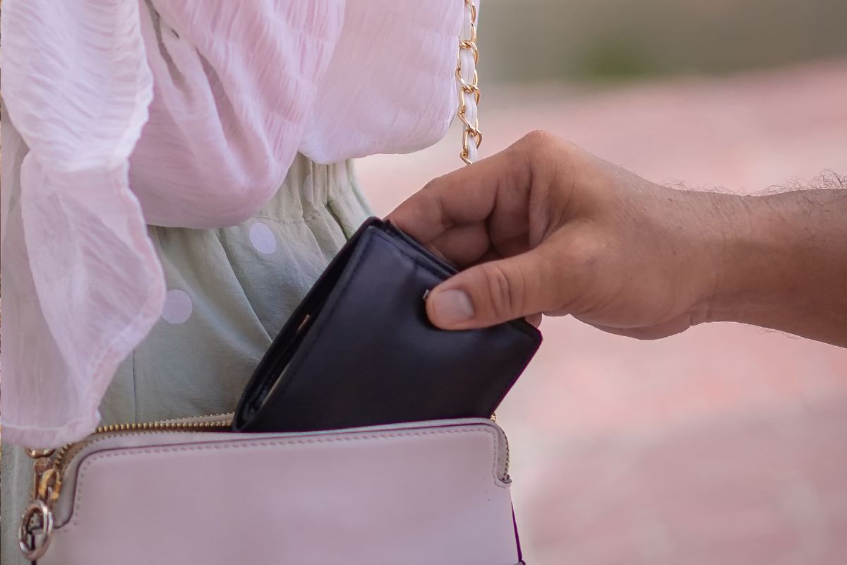
[[[710,319],[847,346],[847,190],[738,197]]]

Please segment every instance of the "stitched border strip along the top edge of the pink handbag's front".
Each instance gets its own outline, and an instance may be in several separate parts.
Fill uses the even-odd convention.
[[[228,443],[226,442],[209,442],[209,443],[198,443],[191,445],[174,445],[174,446],[162,446],[162,447],[152,447],[152,446],[136,446],[129,448],[113,448],[108,451],[102,451],[100,453],[92,454],[89,457],[86,457],[86,460],[80,464],[80,468],[77,472],[76,479],[76,489],[74,495],[74,505],[71,507],[71,518],[69,518],[69,523],[65,522],[62,526],[57,528],[57,533],[67,532],[71,528],[79,525],[80,514],[82,512],[82,491],[85,486],[84,480],[86,477],[86,473],[88,469],[91,468],[91,465],[97,463],[100,459],[107,459],[110,457],[133,457],[136,455],[147,455],[153,453],[169,453],[169,452],[179,452],[179,451],[211,451],[211,450],[233,450],[233,449],[247,449],[251,447],[288,447],[288,446],[303,446],[303,445],[314,445],[314,444],[322,444],[322,443],[334,443],[334,442],[352,442],[352,441],[374,441],[374,440],[389,440],[396,438],[405,438],[405,437],[421,437],[426,435],[445,435],[445,434],[476,434],[479,432],[484,432],[486,435],[489,435],[493,442],[494,446],[494,462],[491,465],[491,476],[494,479],[494,484],[498,488],[501,489],[509,489],[512,485],[511,482],[503,483],[501,479],[497,476],[497,463],[500,461],[500,438],[497,435],[495,429],[490,428],[489,426],[475,426],[473,428],[462,428],[462,429],[418,429],[418,430],[407,430],[406,432],[376,432],[375,434],[347,434],[347,435],[336,435],[336,436],[327,436],[327,437],[313,437],[313,438],[277,438],[275,440],[234,440]]]

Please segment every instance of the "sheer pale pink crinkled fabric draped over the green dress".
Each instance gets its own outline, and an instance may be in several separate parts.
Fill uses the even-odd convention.
[[[152,10],[150,6],[152,5]],[[79,440],[164,282],[145,224],[238,224],[296,152],[411,152],[462,0],[5,0],[3,440]]]

